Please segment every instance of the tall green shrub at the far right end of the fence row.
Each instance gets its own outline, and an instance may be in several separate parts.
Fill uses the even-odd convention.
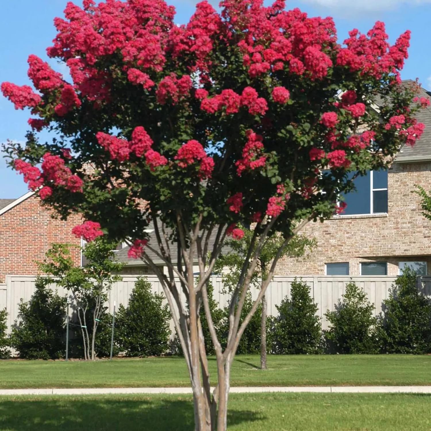
[[[419,293],[417,274],[404,269],[383,301],[379,336],[384,352],[431,352],[431,301]]]

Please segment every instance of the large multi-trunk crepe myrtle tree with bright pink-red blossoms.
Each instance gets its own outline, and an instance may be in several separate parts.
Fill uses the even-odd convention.
[[[130,238],[130,255],[158,275],[187,362],[197,430],[226,429],[235,350],[284,243],[340,210],[337,195],[352,190],[352,172],[387,166],[424,129],[414,118],[421,104],[412,103],[414,86],[400,82],[409,31],[390,46],[377,22],[341,45],[331,18],[284,7],[224,0],[219,13],[203,1],[178,26],[162,0],[68,3],[47,54],[69,67],[72,82],[31,55],[36,91],[1,85],[17,109],[31,109],[35,132],[57,134],[49,144],[34,134],[25,147],[9,144],[11,166],[63,219],[83,215],[75,234]],[[236,224],[250,222],[256,228],[222,350],[206,283],[225,238],[241,238]],[[148,243],[150,224],[157,244]],[[240,324],[259,253],[275,233],[284,242]],[[166,274],[145,250],[165,262]],[[212,393],[202,304],[217,358]]]

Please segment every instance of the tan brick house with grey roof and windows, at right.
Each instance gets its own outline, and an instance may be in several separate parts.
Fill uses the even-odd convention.
[[[425,132],[415,146],[403,147],[387,172],[358,178],[344,215],[307,225],[303,233],[318,247],[305,258],[283,259],[277,275],[399,275],[406,262],[431,274],[431,222],[412,193],[415,184],[431,190],[430,107],[418,121]]]

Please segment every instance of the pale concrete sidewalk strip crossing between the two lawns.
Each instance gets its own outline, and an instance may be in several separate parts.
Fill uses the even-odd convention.
[[[212,388],[213,389],[213,388]],[[431,394],[431,386],[297,386],[231,387],[231,394],[269,392],[313,392],[355,394]],[[103,394],[191,394],[190,387],[112,387],[83,389],[1,389],[0,395],[103,395]]]

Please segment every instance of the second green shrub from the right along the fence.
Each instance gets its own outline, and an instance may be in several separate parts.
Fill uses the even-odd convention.
[[[343,300],[334,311],[326,312],[331,324],[325,331],[326,339],[337,353],[377,353],[376,319],[374,304],[365,292],[350,282],[346,285]]]

